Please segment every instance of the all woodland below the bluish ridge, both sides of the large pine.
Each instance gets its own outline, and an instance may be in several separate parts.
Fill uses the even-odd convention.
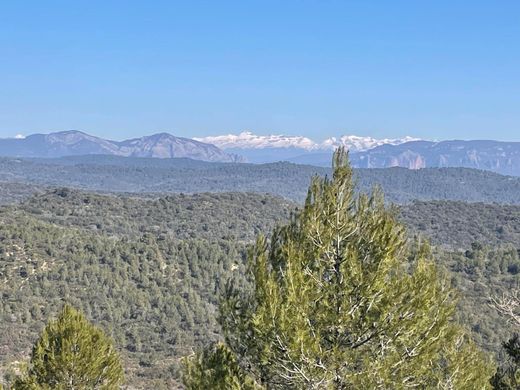
[[[220,338],[218,297],[247,288],[247,246],[298,207],[254,193],[135,197],[59,188],[0,209],[0,350],[15,375],[67,301],[111,335],[127,382],[171,388],[179,359]],[[518,285],[520,207],[463,202],[401,206],[409,235],[430,237],[460,291],[457,316],[499,359],[513,328],[489,297]]]

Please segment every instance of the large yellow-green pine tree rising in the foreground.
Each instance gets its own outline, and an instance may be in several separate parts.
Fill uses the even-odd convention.
[[[340,149],[303,210],[258,238],[252,289],[228,287],[226,344],[269,389],[489,387],[492,368],[453,323],[454,292],[430,257],[378,191],[354,195]]]

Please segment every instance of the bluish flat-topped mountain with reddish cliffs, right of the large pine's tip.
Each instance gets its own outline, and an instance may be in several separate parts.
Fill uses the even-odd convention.
[[[353,153],[351,159],[360,168],[465,167],[520,176],[520,142],[414,141]]]

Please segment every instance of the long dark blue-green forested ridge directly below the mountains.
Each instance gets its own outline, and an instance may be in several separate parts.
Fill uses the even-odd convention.
[[[291,163],[230,164],[190,159],[78,156],[56,159],[0,158],[0,183],[65,186],[101,192],[256,192],[297,202],[313,175],[330,169]],[[462,200],[520,204],[520,178],[466,168],[356,170],[358,187],[378,185],[387,199]],[[0,186],[1,188],[1,186]]]

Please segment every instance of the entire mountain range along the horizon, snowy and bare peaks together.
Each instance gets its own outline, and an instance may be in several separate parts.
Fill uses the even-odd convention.
[[[288,161],[329,167],[338,146],[350,151],[352,164],[358,168],[464,167],[520,176],[520,142],[435,142],[412,137],[376,139],[345,135],[315,142],[302,136],[263,136],[251,132],[195,139],[159,133],[112,141],[71,130],[0,139],[0,156],[55,158],[103,154],[227,163]]]

